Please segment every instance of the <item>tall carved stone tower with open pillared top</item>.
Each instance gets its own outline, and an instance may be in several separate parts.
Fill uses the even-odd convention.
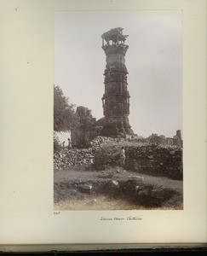
[[[129,125],[129,91],[125,54],[129,46],[125,43],[128,36],[123,28],[111,29],[101,35],[102,49],[106,54],[105,93],[102,97],[104,122],[102,135],[108,137],[133,134]]]

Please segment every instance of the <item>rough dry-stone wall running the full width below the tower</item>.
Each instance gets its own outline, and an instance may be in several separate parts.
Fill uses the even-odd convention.
[[[90,148],[64,148],[54,155],[55,170],[66,169],[71,166],[94,166],[94,163],[120,165],[120,157],[106,152],[106,146],[114,152],[114,148],[121,148],[126,141],[122,138],[95,137]],[[98,154],[101,153],[101,154]],[[106,154],[106,157],[103,155]],[[152,176],[164,176],[182,179],[182,148],[177,146],[162,147],[156,145],[125,147],[124,168]],[[96,159],[96,157],[101,159]],[[118,155],[117,155],[118,156]],[[110,159],[112,158],[112,159]],[[107,161],[106,161],[106,160]],[[101,170],[101,168],[97,168]]]

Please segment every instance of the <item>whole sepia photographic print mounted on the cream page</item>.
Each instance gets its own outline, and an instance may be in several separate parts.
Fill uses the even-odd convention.
[[[183,210],[182,14],[56,11],[54,210]]]

